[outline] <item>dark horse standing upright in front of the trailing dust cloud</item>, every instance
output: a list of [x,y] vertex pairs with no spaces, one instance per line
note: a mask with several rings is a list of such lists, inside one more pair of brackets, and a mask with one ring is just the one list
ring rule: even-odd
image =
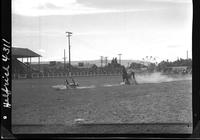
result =
[[122,79],[127,85],[131,84],[129,80],[133,80],[135,84],[138,84],[135,79],[135,72],[132,68],[129,68],[128,70],[126,70],[125,67],[122,68]]

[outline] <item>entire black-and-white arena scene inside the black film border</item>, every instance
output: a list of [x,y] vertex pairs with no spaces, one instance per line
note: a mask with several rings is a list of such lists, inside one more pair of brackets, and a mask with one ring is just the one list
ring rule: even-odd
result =
[[12,0],[14,134],[191,134],[192,0]]

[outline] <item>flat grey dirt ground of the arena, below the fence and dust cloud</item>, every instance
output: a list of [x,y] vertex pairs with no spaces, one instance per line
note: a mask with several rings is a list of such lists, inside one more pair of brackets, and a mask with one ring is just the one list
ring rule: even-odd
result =
[[13,80],[13,133],[192,132],[191,80],[139,85],[120,85],[120,76],[75,80],[83,88],[53,88],[64,78]]

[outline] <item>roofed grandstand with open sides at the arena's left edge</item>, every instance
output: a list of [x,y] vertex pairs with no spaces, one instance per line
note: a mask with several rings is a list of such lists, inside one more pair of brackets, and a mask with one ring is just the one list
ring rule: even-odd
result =
[[40,71],[40,65],[38,65],[39,67],[37,69],[31,67],[31,58],[33,57],[38,57],[38,64],[40,64],[41,55],[27,48],[12,47],[13,78],[18,78],[19,75],[23,75],[25,78],[27,78],[30,77],[31,73]]

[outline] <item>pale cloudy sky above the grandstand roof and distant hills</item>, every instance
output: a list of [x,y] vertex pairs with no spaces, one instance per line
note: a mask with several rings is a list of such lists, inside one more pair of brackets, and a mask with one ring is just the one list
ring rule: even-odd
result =
[[[192,0],[12,0],[13,47],[42,61],[192,57]],[[67,55],[68,57],[68,55]]]

